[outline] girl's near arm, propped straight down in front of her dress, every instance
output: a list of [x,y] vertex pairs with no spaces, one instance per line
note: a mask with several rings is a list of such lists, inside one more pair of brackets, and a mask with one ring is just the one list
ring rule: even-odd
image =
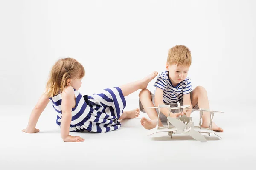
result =
[[80,136],[71,136],[69,135],[69,128],[72,119],[72,106],[75,99],[74,89],[71,86],[68,86],[62,92],[62,102],[61,102],[61,138],[64,142],[81,142],[84,141]]

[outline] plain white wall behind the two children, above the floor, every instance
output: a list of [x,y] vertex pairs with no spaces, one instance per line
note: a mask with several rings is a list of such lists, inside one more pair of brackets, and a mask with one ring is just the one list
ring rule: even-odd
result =
[[251,102],[255,7],[253,0],[2,0],[0,105],[35,105],[61,57],[84,65],[80,92],[93,94],[164,71],[177,44],[190,48],[188,76],[210,101]]

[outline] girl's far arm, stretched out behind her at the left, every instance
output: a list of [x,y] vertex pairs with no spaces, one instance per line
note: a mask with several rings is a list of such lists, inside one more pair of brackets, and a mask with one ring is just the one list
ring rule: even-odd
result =
[[38,100],[37,104],[33,108],[30,118],[29,118],[29,123],[26,129],[23,129],[23,132],[26,133],[36,133],[39,132],[39,129],[35,128],[36,123],[38,122],[38,119],[41,115],[41,113],[44,111],[45,107],[49,103],[49,98],[46,94],[43,94],[40,99]]

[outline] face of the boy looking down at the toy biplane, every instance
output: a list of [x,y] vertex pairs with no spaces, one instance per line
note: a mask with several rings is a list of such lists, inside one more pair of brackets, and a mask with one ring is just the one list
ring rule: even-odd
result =
[[172,85],[176,86],[184,79],[186,79],[189,72],[189,67],[187,65],[177,65],[166,63],[166,71],[169,71],[169,78],[172,82]]

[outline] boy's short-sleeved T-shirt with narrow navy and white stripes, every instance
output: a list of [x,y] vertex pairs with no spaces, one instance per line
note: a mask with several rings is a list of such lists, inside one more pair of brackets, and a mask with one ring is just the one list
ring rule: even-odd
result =
[[157,77],[154,86],[163,90],[163,102],[166,104],[177,103],[183,99],[184,94],[192,91],[189,77],[180,82],[176,87],[172,85],[169,79],[168,71],[163,71]]

